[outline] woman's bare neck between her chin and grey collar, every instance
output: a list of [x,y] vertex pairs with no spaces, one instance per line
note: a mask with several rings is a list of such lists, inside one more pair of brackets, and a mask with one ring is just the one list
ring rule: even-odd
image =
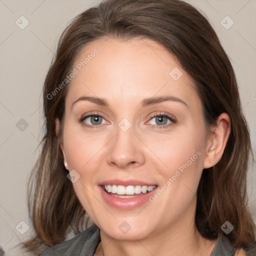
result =
[[[193,223],[193,224],[192,224]],[[178,227],[177,227],[178,226]],[[117,240],[108,236],[100,230],[100,237],[103,253],[100,246],[99,256],[124,255],[124,256],[210,256],[216,240],[203,238],[198,232],[194,221],[182,226],[179,224],[171,225],[150,237],[134,240]]]

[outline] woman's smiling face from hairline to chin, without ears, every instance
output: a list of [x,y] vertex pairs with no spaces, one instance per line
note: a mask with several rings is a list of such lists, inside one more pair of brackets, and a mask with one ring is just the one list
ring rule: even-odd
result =
[[61,148],[88,215],[116,239],[191,226],[207,145],[191,78],[150,39],[93,41],[73,68]]

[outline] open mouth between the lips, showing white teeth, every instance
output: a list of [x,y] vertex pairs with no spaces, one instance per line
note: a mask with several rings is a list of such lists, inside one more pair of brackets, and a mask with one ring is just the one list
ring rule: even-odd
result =
[[146,194],[156,188],[157,185],[102,185],[103,190],[111,196],[118,198],[131,198]]

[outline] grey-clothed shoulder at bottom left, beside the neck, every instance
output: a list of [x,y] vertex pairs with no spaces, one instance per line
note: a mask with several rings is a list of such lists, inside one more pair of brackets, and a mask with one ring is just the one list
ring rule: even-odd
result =
[[99,228],[94,224],[73,238],[46,248],[38,256],[93,256],[99,241]]

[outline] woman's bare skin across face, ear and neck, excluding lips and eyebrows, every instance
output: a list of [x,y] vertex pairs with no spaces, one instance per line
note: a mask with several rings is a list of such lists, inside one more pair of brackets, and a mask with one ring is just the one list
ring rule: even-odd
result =
[[[201,101],[192,79],[175,58],[150,39],[101,38],[80,52],[76,63],[95,48],[99,52],[71,80],[65,101],[61,149],[66,168],[80,178],[73,183],[84,209],[100,228],[105,256],[110,255],[210,255],[215,240],[204,239],[196,229],[196,189],[203,168],[216,164],[230,133],[230,119],[222,113],[207,136]],[[169,72],[182,71],[178,80]],[[80,100],[81,96],[105,98],[108,107]],[[171,95],[183,100],[140,106],[146,97]],[[101,127],[91,112],[103,117]],[[159,128],[159,112],[176,119]],[[131,127],[118,123],[126,118]],[[95,119],[92,119],[92,121]],[[59,130],[56,120],[56,132]],[[154,128],[153,128],[154,127]],[[98,184],[107,179],[138,179],[161,187],[197,151],[201,154],[157,198],[135,209],[116,209],[102,198]],[[126,221],[127,233],[118,226]],[[96,253],[102,255],[101,244]]]

